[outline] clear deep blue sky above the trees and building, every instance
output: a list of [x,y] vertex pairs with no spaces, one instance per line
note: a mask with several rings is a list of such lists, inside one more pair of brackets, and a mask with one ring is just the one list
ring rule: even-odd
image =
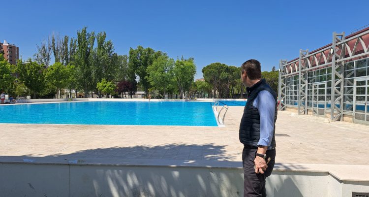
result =
[[51,33],[77,37],[88,27],[106,32],[119,55],[141,45],[193,57],[195,78],[203,78],[201,69],[215,62],[257,59],[270,71],[300,49],[332,43],[333,32],[368,25],[365,7],[368,0],[5,0],[0,41],[27,59]]

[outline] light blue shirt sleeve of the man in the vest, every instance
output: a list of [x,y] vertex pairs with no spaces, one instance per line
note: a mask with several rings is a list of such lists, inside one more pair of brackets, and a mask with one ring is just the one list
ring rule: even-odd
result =
[[260,140],[257,145],[271,148],[274,132],[274,113],[276,112],[276,100],[266,91],[260,91],[252,103],[260,115]]

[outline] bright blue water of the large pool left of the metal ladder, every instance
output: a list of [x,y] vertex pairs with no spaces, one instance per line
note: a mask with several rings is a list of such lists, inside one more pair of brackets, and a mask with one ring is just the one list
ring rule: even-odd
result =
[[0,106],[0,123],[217,126],[211,102],[63,102]]

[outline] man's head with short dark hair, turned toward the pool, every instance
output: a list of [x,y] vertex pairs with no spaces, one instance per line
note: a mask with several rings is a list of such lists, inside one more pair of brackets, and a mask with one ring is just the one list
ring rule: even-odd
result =
[[247,60],[241,66],[241,80],[246,87],[251,87],[261,79],[261,65],[257,60]]

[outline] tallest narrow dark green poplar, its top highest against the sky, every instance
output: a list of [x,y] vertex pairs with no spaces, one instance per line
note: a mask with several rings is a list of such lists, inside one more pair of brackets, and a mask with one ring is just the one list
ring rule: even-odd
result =
[[[77,85],[84,90],[87,97],[93,86],[93,44],[95,33],[87,33],[87,28],[77,32],[78,46],[75,53]],[[92,96],[92,93],[91,93]]]

